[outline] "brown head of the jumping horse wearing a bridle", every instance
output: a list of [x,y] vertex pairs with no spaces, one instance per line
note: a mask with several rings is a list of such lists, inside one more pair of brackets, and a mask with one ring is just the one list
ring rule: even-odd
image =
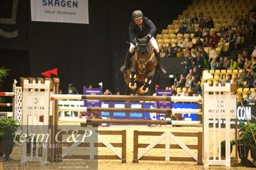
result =
[[136,38],[137,40],[137,64],[139,73],[144,73],[146,71],[146,65],[149,63],[149,44],[146,42],[146,37],[144,38]]

